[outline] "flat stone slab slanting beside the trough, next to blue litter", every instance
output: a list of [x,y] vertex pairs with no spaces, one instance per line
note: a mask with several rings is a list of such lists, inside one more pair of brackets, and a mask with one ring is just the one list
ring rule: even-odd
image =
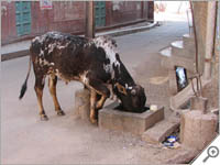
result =
[[148,143],[158,144],[170,135],[179,127],[179,124],[180,119],[172,116],[146,130],[142,134],[142,140]]

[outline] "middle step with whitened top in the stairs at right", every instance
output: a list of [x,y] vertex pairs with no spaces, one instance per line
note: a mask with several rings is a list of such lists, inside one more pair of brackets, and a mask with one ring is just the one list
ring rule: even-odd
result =
[[187,57],[187,58],[194,57],[194,53],[191,52],[191,50],[184,47],[183,41],[175,41],[170,45],[172,45],[172,55],[173,56],[180,56],[180,57]]

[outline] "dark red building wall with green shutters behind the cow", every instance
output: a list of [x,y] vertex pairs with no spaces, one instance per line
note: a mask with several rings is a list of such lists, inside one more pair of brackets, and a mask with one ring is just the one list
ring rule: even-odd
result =
[[[85,29],[84,1],[53,1],[53,9],[42,10],[38,1],[31,2],[31,33],[18,36],[15,2],[1,2],[1,43],[31,38],[47,31],[82,34]],[[148,2],[106,1],[106,26],[147,19]]]

